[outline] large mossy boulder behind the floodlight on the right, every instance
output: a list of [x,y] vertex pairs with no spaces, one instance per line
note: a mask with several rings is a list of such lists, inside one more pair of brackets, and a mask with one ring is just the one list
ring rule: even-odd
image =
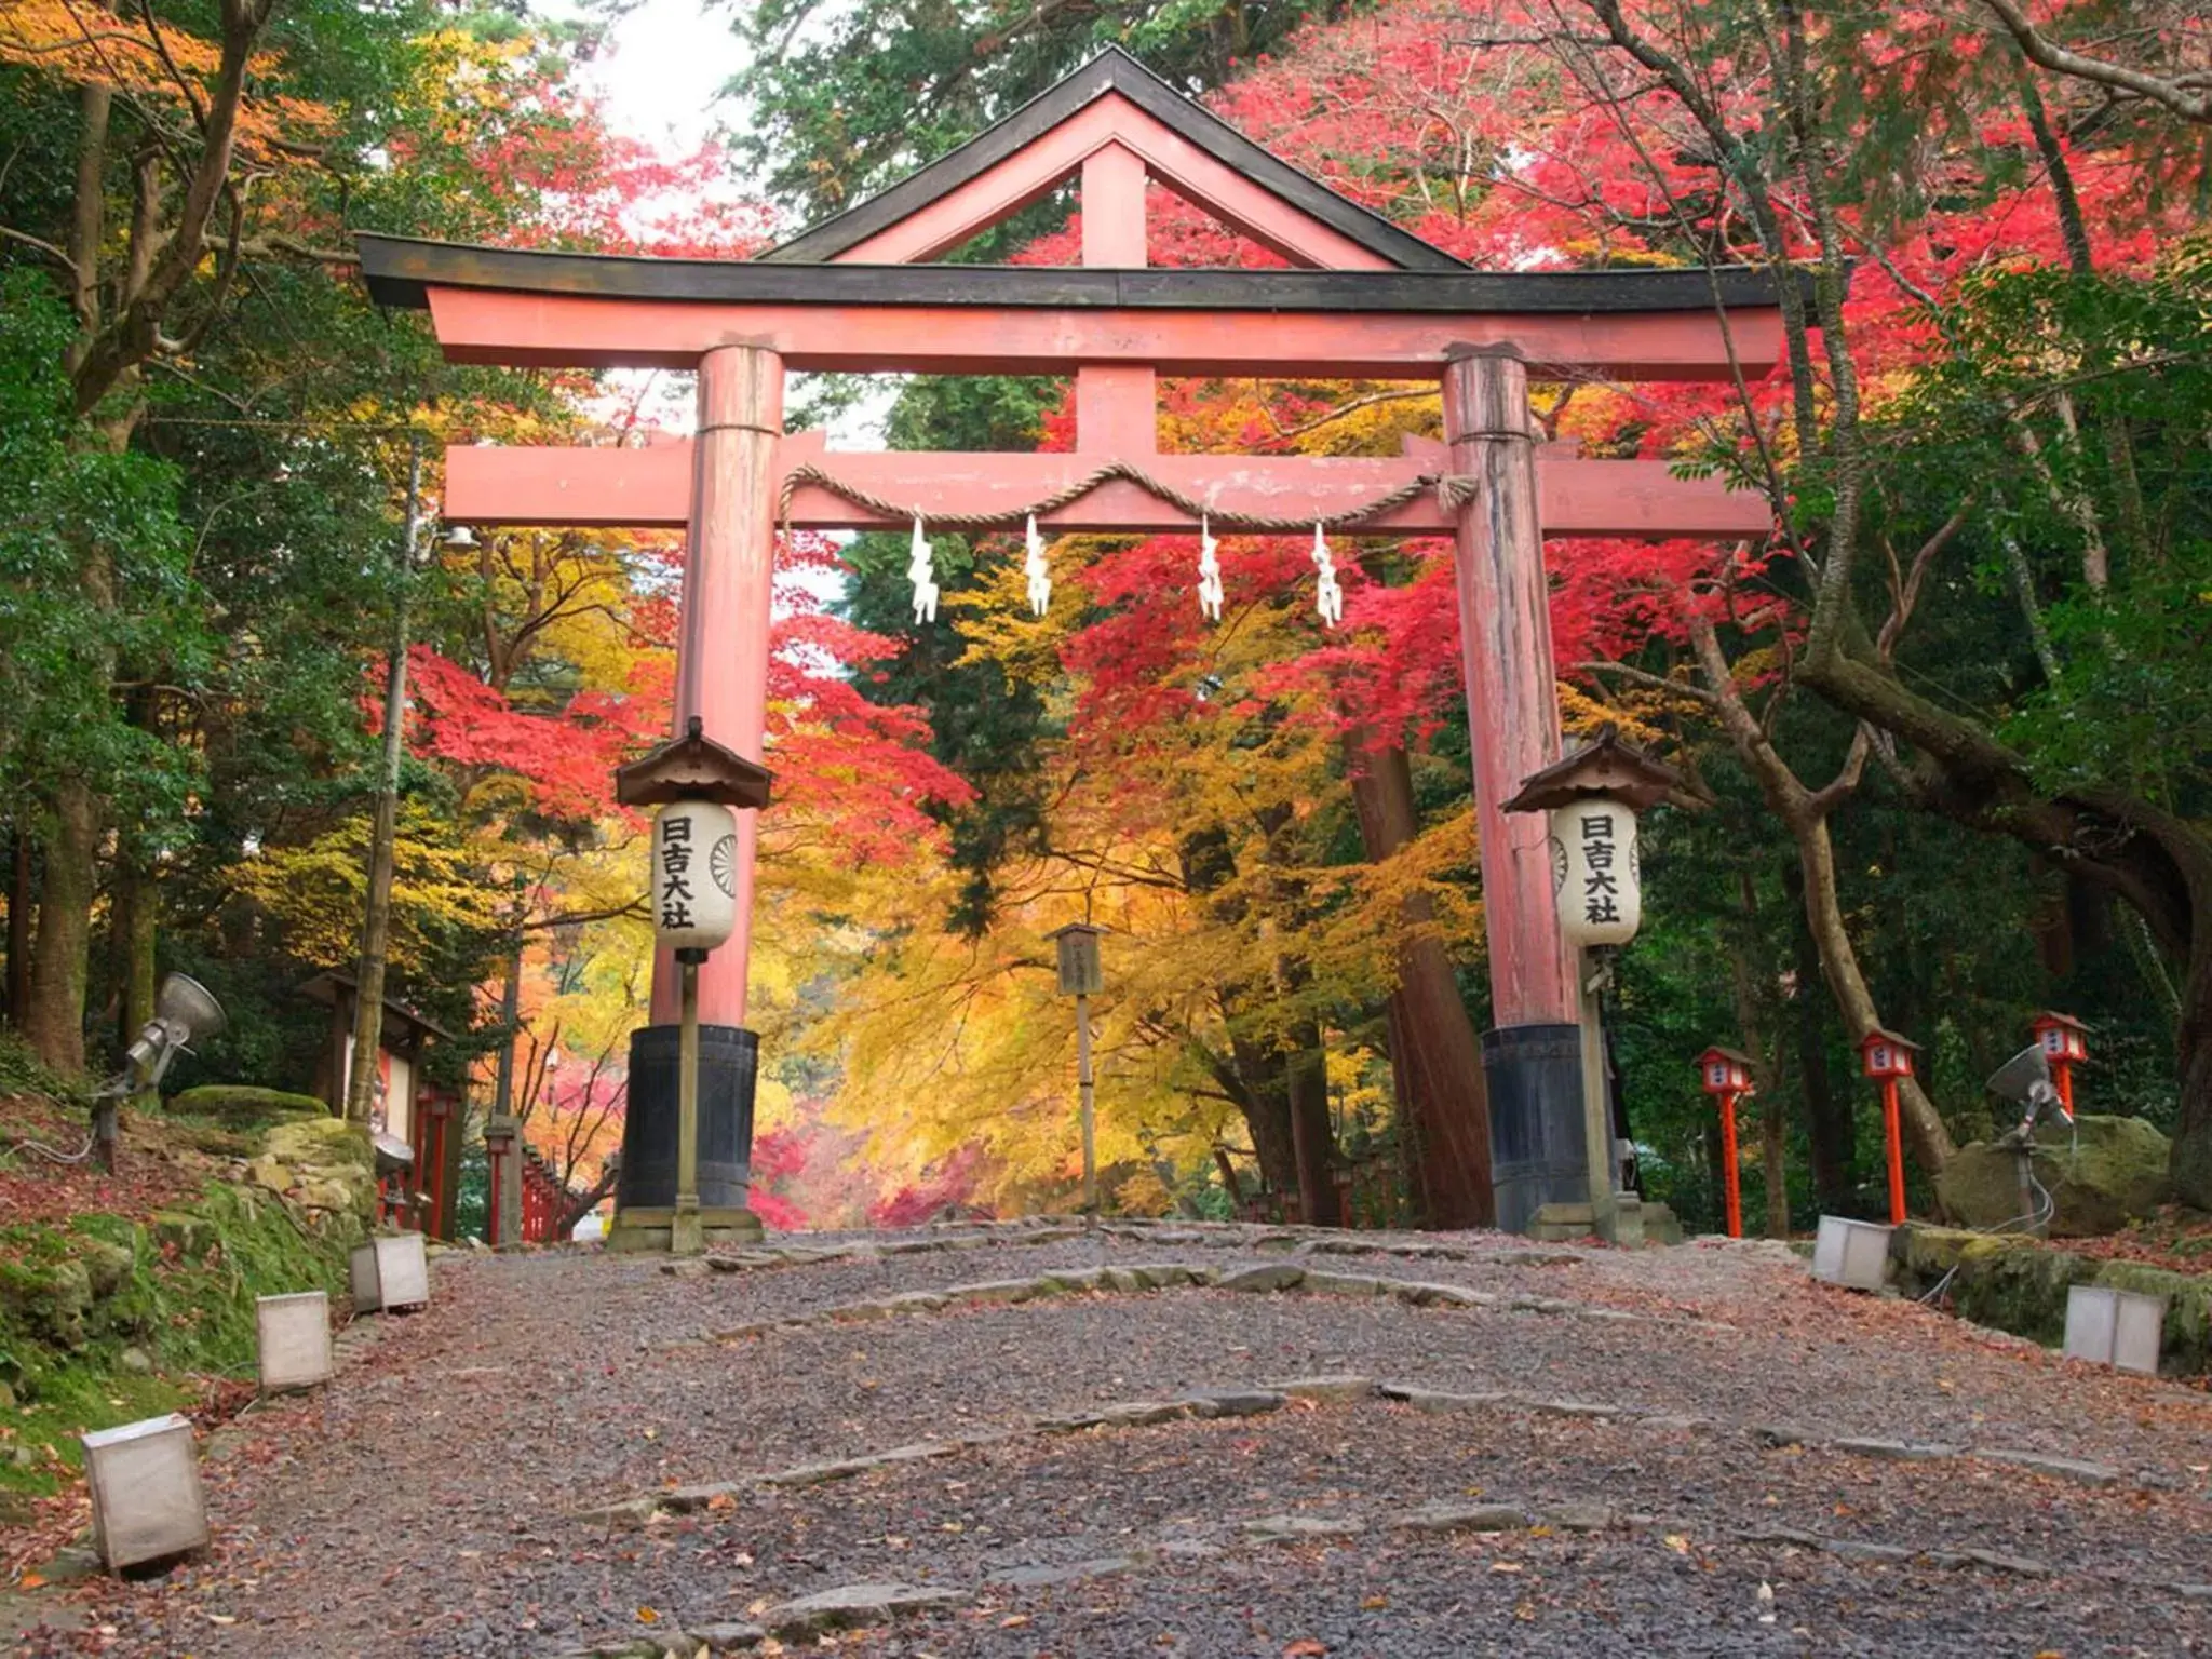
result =
[[[2035,1179],[2057,1203],[2053,1239],[2119,1232],[2168,1199],[2172,1144],[2141,1117],[2079,1117],[2048,1124],[2035,1141]],[[1936,1177],[1944,1212],[1969,1228],[1995,1228],[2022,1212],[2020,1159],[2008,1146],[1973,1141]]]

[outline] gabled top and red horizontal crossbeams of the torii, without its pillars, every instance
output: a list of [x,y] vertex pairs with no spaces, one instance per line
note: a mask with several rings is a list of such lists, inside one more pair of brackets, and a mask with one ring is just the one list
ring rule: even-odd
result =
[[[929,263],[1079,177],[1082,265]],[[1146,186],[1294,270],[1146,268]],[[978,513],[1053,533],[1327,518],[1349,533],[1453,524],[1400,458],[1157,453],[1161,374],[1436,380],[1469,352],[1531,374],[1730,380],[1781,356],[1778,281],[1728,270],[1471,270],[1336,195],[1106,49],[1004,122],[754,259],[646,259],[358,234],[385,305],[427,307],[453,363],[697,367],[726,345],[783,372],[1073,374],[1073,453],[827,453],[776,440],[781,518],[880,529]],[[1803,281],[1798,276],[1798,281]],[[1551,535],[1759,535],[1763,498],[1663,462],[1537,456]],[[1106,471],[1099,471],[1102,465]],[[827,469],[827,471],[825,471]],[[458,447],[445,515],[478,524],[681,526],[695,445]],[[1044,502],[1057,502],[1046,507]],[[1356,526],[1356,529],[1352,529]]]

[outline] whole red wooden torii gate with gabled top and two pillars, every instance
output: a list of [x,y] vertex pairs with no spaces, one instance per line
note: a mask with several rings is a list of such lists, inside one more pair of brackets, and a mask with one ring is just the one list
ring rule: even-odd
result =
[[[931,265],[1068,179],[1082,268]],[[1146,270],[1157,181],[1294,270]],[[1573,1073],[1502,1075],[1511,1037],[1571,1033],[1579,998],[1553,907],[1542,814],[1506,814],[1559,759],[1544,535],[1750,538],[1761,498],[1663,462],[1546,449],[1528,374],[1621,380],[1759,376],[1781,349],[1761,272],[1478,272],[1367,212],[1175,93],[1117,49],[883,195],[745,261],[518,252],[363,234],[387,305],[429,307],[456,363],[668,367],[699,376],[688,442],[447,451],[445,518],[688,531],[675,723],[763,759],[776,520],[905,529],[1000,515],[1110,469],[1037,513],[1060,533],[1332,522],[1349,535],[1451,533],[1473,728],[1493,1095],[1582,1144]],[[832,453],[783,431],[790,369],[1075,374],[1075,453]],[[1447,442],[1402,458],[1164,456],[1155,376],[1442,380]],[[1128,473],[1139,473],[1144,482]],[[1440,478],[1444,473],[1444,478]],[[1152,484],[1148,489],[1146,484]],[[1431,489],[1431,484],[1442,484]],[[779,502],[787,493],[787,509]],[[889,511],[896,509],[896,511]],[[741,812],[739,922],[699,973],[699,1018],[745,1022],[757,814]],[[675,1020],[655,962],[653,1020]],[[646,1035],[646,1033],[641,1033]],[[1506,1042],[1500,1042],[1506,1040]],[[633,1099],[633,1117],[650,1102]],[[734,1102],[701,1102],[734,1110]],[[670,1108],[672,1110],[672,1108]],[[743,1115],[750,1121],[750,1110]],[[1610,1199],[1610,1148],[1588,1188]],[[743,1157],[743,1150],[741,1150]]]

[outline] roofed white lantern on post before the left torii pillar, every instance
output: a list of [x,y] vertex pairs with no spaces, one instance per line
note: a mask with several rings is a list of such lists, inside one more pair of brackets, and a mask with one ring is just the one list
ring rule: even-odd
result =
[[712,741],[697,714],[675,743],[615,772],[622,805],[659,807],[653,821],[653,929],[681,969],[677,1179],[668,1217],[668,1250],[677,1256],[706,1250],[699,1208],[699,964],[737,927],[734,810],[765,807],[768,785],[768,770]]

